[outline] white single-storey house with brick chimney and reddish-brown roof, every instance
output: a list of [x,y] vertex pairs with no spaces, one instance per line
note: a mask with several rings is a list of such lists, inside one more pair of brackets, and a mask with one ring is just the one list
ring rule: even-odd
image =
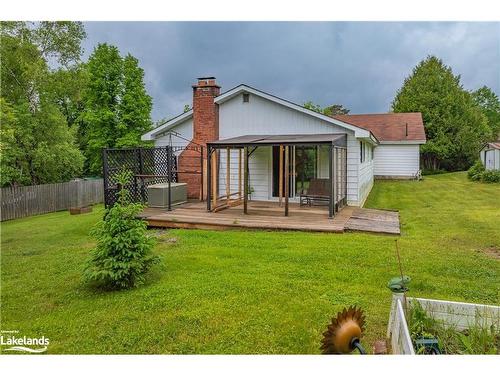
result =
[[[142,139],[156,146],[208,145],[208,174],[212,153],[218,156],[216,185],[208,183],[207,189],[226,191],[228,200],[238,190],[241,196],[237,177],[243,168],[240,150],[245,149],[245,187],[252,200],[277,201],[285,195],[287,201],[297,202],[312,181],[330,178],[338,196],[335,205],[352,206],[363,206],[374,178],[414,178],[420,169],[419,147],[426,141],[420,113],[329,117],[244,84],[221,94],[213,77],[199,78],[193,85],[191,110]],[[282,175],[283,147],[289,179]],[[199,159],[189,149],[177,154],[179,166]],[[188,183],[191,197],[199,197],[200,186],[207,184],[199,175],[183,174],[179,180]]]

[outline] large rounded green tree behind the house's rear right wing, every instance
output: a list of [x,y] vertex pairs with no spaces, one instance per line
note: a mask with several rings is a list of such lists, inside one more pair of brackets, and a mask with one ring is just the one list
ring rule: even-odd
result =
[[392,102],[393,112],[421,112],[427,136],[424,168],[464,170],[490,136],[486,117],[460,84],[460,76],[435,56],[422,60]]

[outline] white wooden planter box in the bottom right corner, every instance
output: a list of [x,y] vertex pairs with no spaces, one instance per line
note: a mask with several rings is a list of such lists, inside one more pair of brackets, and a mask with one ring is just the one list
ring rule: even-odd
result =
[[[500,324],[500,306],[410,297],[406,300],[418,301],[429,316],[457,329],[466,329],[475,322],[488,326]],[[403,306],[403,295],[394,294],[387,325],[387,339],[390,340],[392,354],[415,354]]]

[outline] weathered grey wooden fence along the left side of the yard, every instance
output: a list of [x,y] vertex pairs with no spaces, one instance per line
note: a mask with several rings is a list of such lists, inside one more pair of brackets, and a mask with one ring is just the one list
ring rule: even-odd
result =
[[102,179],[0,189],[0,221],[102,203]]

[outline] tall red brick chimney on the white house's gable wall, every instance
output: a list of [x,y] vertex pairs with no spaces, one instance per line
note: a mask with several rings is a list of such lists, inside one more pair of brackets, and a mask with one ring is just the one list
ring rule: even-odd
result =
[[[215,77],[198,78],[198,83],[193,85],[193,139],[178,158],[179,182],[188,184],[188,198],[200,198],[202,180],[200,174],[182,171],[200,171],[200,153],[194,148],[199,148],[199,145],[204,146],[203,158],[206,164],[207,142],[219,139],[219,105],[214,103],[215,97],[219,94],[220,86],[217,85]],[[206,180],[206,169],[204,180]],[[203,194],[205,195],[206,191]]]

